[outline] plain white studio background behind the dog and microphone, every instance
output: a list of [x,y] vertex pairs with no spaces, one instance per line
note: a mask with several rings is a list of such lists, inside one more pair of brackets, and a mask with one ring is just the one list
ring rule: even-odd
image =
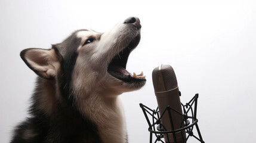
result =
[[140,18],[141,42],[127,69],[144,71],[147,83],[121,95],[129,142],[149,142],[138,104],[157,106],[151,74],[160,64],[174,68],[182,102],[199,93],[205,142],[255,142],[256,2],[242,0],[0,1],[0,142],[27,116],[35,86],[22,49],[51,48],[77,29],[104,32],[132,15]]

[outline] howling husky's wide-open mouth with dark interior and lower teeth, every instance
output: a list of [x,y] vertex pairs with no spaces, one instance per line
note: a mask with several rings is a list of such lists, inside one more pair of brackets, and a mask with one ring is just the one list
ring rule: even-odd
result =
[[140,74],[131,74],[126,70],[127,60],[132,49],[136,48],[138,43],[140,42],[140,35],[136,36],[129,42],[128,46],[125,47],[118,55],[116,55],[109,64],[107,71],[113,77],[116,77],[119,80],[123,80],[124,82],[143,82],[146,81],[143,72]]

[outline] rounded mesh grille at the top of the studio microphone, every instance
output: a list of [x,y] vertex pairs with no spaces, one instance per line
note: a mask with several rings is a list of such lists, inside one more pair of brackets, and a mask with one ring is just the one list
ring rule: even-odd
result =
[[174,70],[168,64],[156,67],[152,72],[155,92],[169,91],[178,87]]

